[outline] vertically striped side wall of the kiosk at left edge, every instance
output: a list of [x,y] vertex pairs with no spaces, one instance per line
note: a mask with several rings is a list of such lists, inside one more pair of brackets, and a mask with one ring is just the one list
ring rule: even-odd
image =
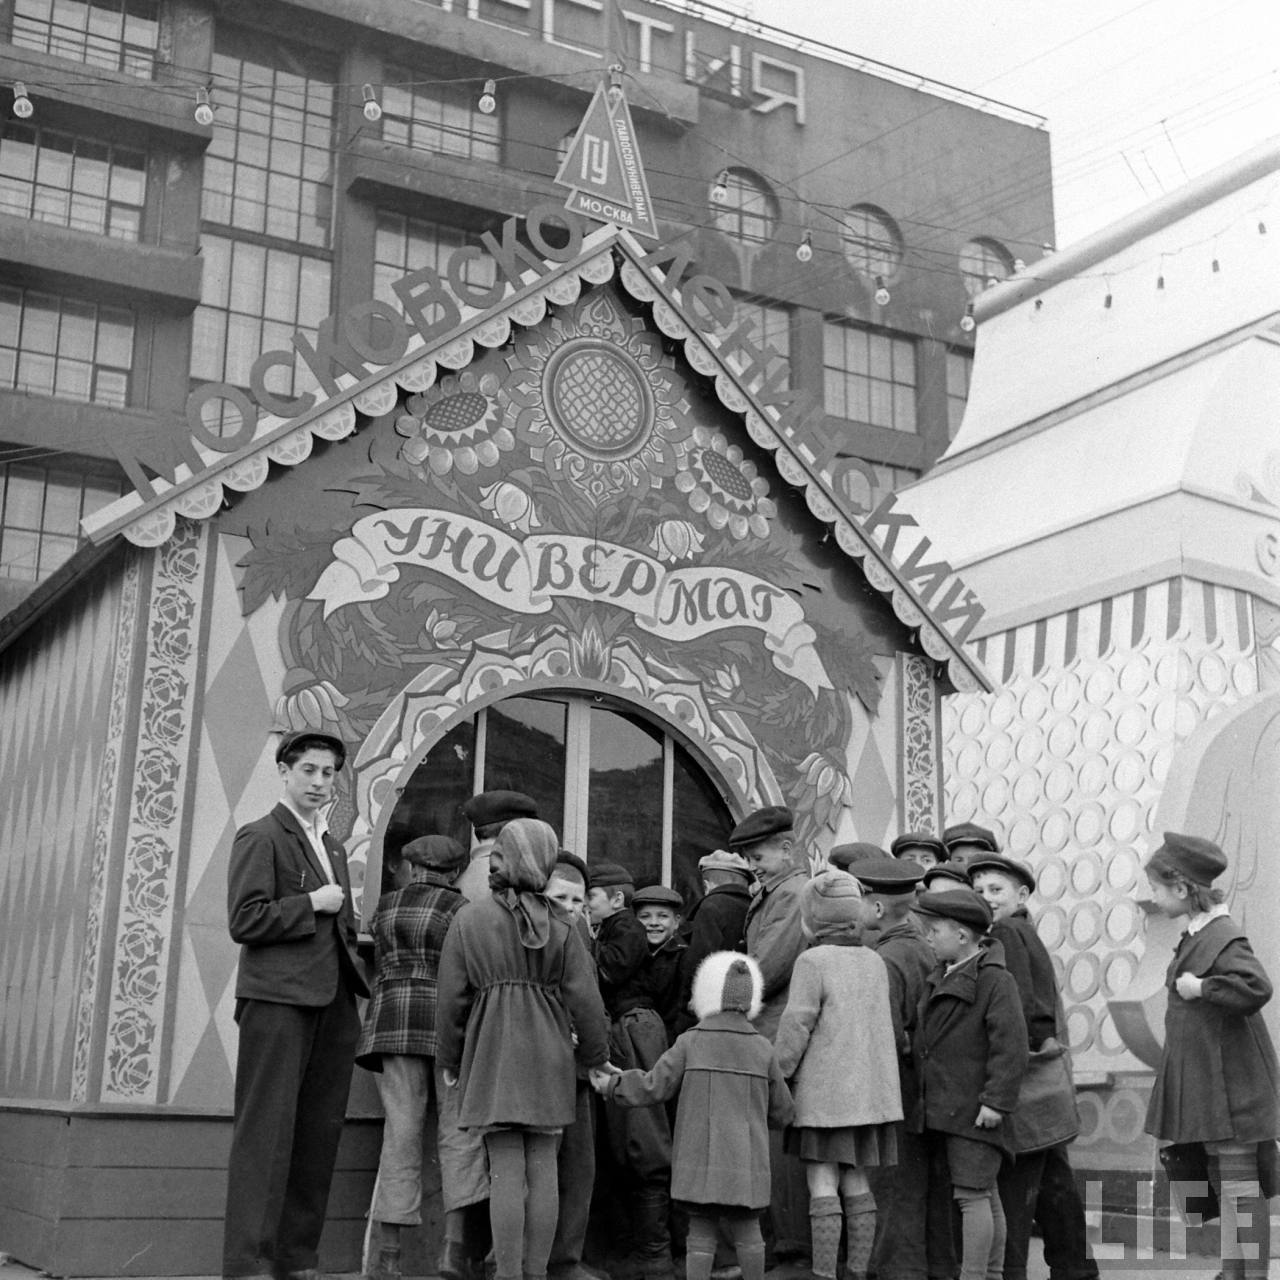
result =
[[123,573],[0,655],[0,1093],[68,1098]]

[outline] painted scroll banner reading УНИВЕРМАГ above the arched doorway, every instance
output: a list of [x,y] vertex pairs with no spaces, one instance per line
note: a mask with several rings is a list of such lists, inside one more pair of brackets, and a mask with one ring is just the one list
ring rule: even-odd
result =
[[497,593],[517,613],[545,613],[557,596],[604,602],[669,640],[750,627],[763,632],[778,671],[814,694],[832,687],[804,611],[764,579],[708,564],[667,568],[632,548],[591,538],[531,534],[521,540],[454,512],[398,508],[358,520],[334,545],[334,561],[310,599],[324,602],[326,617],[381,599],[401,566],[442,573],[485,599]]

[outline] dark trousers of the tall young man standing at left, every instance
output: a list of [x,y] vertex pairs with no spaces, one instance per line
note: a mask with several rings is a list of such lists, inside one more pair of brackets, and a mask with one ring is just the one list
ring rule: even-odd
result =
[[237,1007],[236,1123],[227,1167],[223,1275],[305,1271],[319,1261],[360,1019],[346,982],[320,1009]]

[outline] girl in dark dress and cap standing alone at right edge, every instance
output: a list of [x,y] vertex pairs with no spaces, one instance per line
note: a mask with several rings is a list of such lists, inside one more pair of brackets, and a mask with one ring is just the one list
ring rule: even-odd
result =
[[1204,1149],[1221,1203],[1224,1280],[1262,1280],[1270,1249],[1261,1174],[1280,1135],[1280,1069],[1261,1014],[1271,982],[1213,888],[1225,870],[1226,855],[1212,841],[1171,831],[1147,863],[1156,910],[1187,918],[1169,966],[1147,1132]]

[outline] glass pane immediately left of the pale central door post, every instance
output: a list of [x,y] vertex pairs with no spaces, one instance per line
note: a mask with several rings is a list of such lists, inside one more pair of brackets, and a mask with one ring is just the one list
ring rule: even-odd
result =
[[524,791],[563,838],[563,700],[508,698],[485,716],[484,791]]

